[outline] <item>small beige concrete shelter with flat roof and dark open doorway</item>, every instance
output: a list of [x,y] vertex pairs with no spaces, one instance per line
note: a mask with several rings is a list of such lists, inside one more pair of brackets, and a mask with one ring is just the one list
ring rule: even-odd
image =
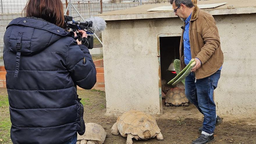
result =
[[[256,114],[256,1],[209,0],[226,5],[204,9],[214,16],[224,64],[214,92],[218,115]],[[171,61],[179,59],[183,22],[173,11],[147,12],[170,3],[142,5],[98,15],[102,32],[107,114],[136,109],[162,113],[161,79],[167,81]],[[171,110],[171,109],[170,109]]]

